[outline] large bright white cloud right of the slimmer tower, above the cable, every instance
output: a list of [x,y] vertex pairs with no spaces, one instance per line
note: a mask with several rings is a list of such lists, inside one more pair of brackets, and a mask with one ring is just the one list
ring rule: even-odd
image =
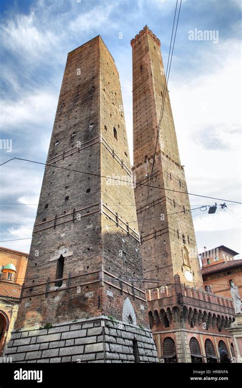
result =
[[172,77],[170,97],[188,191],[239,201],[240,46],[230,40],[216,47],[201,48],[198,72]]

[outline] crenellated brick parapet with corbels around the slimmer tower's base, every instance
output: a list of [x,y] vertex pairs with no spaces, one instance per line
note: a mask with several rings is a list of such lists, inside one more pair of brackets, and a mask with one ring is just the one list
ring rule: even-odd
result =
[[[234,320],[234,308],[231,299],[215,296],[181,284],[179,275],[175,275],[175,282],[147,290],[147,301],[150,324],[158,326],[168,321],[187,320],[217,329],[227,329]],[[157,319],[158,317],[158,319]],[[158,322],[158,323],[157,323]]]

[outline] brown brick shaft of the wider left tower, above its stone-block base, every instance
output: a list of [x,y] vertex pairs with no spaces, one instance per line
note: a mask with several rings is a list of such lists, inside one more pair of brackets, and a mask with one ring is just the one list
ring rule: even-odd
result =
[[[143,299],[131,298],[137,324],[148,327],[143,283],[135,283],[136,288],[124,283],[123,294],[106,273],[111,285],[106,279],[95,283],[101,270],[116,277],[142,277],[134,191],[126,183],[132,181],[132,172],[119,76],[100,36],[68,54],[47,162],[52,165],[45,168],[15,328],[64,323],[66,306],[70,321],[102,313],[122,320],[124,302],[134,289],[135,296]],[[116,215],[118,227],[113,222]],[[128,222],[132,222],[129,229]],[[61,254],[64,280],[56,288]],[[90,323],[86,329],[91,329]]]

